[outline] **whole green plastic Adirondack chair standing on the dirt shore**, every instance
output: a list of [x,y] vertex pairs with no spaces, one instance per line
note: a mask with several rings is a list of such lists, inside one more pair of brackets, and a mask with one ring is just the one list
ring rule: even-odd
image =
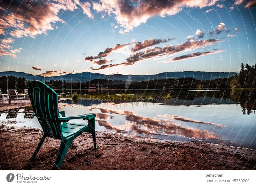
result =
[[[31,81],[28,85],[28,95],[35,112],[34,115],[44,131],[44,135],[30,159],[31,161],[34,160],[46,137],[61,140],[54,165],[55,169],[61,166],[71,142],[83,132],[92,134],[94,149],[97,150],[94,121],[96,114],[88,113],[66,117],[64,111],[59,111],[57,93],[42,81]],[[88,120],[88,124],[68,122],[74,119]]]

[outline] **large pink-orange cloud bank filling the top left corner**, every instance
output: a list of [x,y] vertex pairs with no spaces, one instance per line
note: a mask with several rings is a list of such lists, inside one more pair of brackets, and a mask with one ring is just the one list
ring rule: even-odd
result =
[[83,9],[84,14],[90,18],[93,17],[90,12],[91,4],[89,2],[81,3],[79,0],[54,0],[52,2],[40,0],[34,4],[31,2],[17,0],[11,2],[2,1],[1,9],[6,7],[7,10],[4,13],[0,13],[0,16],[4,20],[3,23],[0,21],[2,30],[2,26],[5,24],[15,28],[10,32],[14,37],[20,38],[26,36],[35,38],[38,34],[47,34],[48,31],[53,30],[52,24],[56,22],[65,23],[58,17],[60,10],[74,11],[80,7]]

